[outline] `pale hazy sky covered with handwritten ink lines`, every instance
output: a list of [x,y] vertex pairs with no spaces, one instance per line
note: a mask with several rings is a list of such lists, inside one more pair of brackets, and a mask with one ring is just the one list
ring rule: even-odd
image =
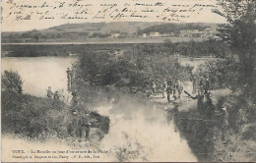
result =
[[3,0],[2,8],[2,31],[90,22],[224,23],[211,11],[216,0]]

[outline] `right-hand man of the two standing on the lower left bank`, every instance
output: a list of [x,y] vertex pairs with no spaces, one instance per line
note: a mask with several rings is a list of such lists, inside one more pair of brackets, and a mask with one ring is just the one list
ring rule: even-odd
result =
[[82,139],[85,132],[86,132],[86,140],[90,139],[91,125],[92,124],[90,123],[89,112],[86,111],[85,115],[82,116],[82,118],[78,122],[80,140]]

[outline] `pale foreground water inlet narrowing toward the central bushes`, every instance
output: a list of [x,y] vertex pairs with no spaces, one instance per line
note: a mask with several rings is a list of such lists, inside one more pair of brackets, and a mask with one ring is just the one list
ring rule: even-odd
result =
[[100,148],[111,150],[113,161],[197,161],[187,141],[174,132],[173,120],[166,120],[173,113],[127,96],[97,111],[110,117]]

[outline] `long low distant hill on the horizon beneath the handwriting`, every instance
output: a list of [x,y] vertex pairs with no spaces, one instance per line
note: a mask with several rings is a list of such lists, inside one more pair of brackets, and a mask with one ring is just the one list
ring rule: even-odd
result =
[[[56,27],[49,27],[41,30],[30,30],[20,32],[2,32],[3,43],[27,43],[27,42],[67,42],[67,41],[88,41],[92,38],[134,38],[142,36],[142,33],[158,31],[162,33],[179,33],[181,29],[199,29],[206,27],[216,28],[216,24],[169,24],[169,23],[142,23],[142,22],[121,22],[121,23],[85,23],[66,24]],[[118,32],[118,36],[111,36],[111,33]],[[176,34],[178,36],[178,34]],[[115,38],[115,39],[118,39]],[[113,38],[114,39],[114,38]]]

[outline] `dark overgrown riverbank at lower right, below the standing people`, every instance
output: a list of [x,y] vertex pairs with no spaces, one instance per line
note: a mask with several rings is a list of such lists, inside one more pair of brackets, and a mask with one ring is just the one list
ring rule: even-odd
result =
[[[232,94],[228,89],[213,90],[212,101],[215,106],[212,118],[197,110],[197,100],[183,96],[176,104],[162,102],[160,98],[152,101],[166,110],[169,121],[173,121],[180,136],[185,138],[199,161],[254,161],[256,152],[255,106],[250,105],[241,95]],[[224,143],[222,104],[228,113],[227,140]],[[174,112],[175,106],[178,110]],[[254,107],[254,109],[253,109]],[[247,111],[247,112],[246,112]],[[221,115],[220,115],[221,114]]]

